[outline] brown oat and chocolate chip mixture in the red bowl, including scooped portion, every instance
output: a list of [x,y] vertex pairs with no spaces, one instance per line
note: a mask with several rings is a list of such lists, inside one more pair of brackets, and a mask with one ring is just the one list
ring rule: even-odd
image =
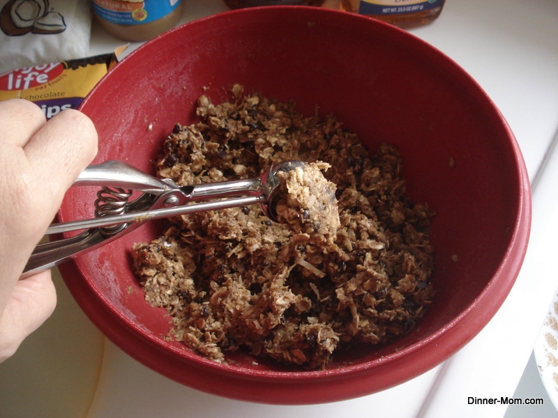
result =
[[201,355],[224,361],[243,348],[323,369],[335,350],[409,332],[432,300],[433,212],[405,197],[398,150],[370,154],[340,121],[315,113],[236,85],[221,104],[200,97],[201,121],[165,140],[158,175],[179,185],[307,162],[282,179],[276,211],[286,223],[259,206],[197,213],[134,245],[146,300],[165,307],[172,338]]

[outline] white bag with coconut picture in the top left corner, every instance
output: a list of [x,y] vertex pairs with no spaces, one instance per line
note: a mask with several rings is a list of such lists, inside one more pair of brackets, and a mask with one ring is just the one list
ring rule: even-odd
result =
[[88,56],[89,0],[0,0],[0,73]]

